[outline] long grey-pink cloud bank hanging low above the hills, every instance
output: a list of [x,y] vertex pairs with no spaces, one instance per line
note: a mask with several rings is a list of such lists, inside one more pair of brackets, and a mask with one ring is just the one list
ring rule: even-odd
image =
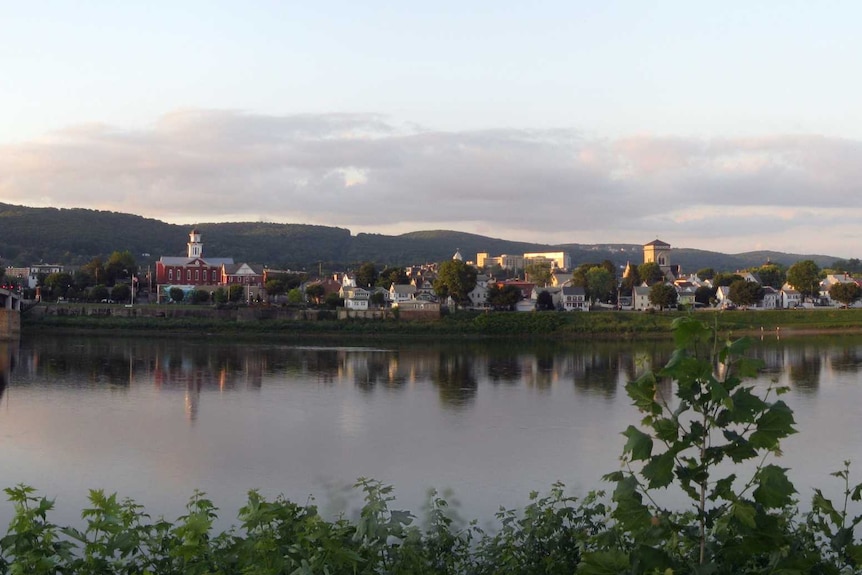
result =
[[834,250],[858,236],[859,182],[853,140],[435,132],[372,114],[180,110],[147,130],[81,125],[0,147],[8,203],[721,251]]

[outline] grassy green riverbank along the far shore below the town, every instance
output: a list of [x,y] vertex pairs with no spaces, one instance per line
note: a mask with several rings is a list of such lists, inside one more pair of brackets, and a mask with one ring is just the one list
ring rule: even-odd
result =
[[[51,306],[54,306],[53,308]],[[820,333],[862,333],[862,309],[815,308],[804,310],[696,312],[472,312],[459,311],[436,320],[404,320],[392,313],[342,317],[327,310],[243,307],[234,310],[202,306],[143,305],[75,306],[57,309],[47,304],[22,316],[22,331],[142,332],[153,334],[208,333],[213,335],[298,337],[534,337],[669,338],[674,319],[694,313],[720,333],[734,335],[775,334],[798,336]],[[41,308],[41,309],[40,309]],[[59,313],[58,313],[59,311]]]

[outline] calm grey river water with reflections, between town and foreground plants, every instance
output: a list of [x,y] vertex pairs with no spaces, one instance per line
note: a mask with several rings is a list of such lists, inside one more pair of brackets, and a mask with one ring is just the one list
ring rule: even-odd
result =
[[[0,343],[0,486],[56,498],[78,521],[103,488],[175,519],[195,489],[232,523],[246,492],[352,509],[360,476],[420,512],[428,488],[490,520],[554,481],[582,495],[618,468],[638,420],[625,382],[667,343],[287,345],[25,337]],[[778,463],[803,500],[862,465],[862,339],[759,341],[757,385],[789,385],[800,433]],[[862,481],[862,472],[856,475]],[[11,506],[0,503],[0,533]]]

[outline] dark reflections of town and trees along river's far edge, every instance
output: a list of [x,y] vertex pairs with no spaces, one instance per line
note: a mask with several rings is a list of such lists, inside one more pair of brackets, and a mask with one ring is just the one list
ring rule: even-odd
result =
[[[326,385],[349,382],[362,393],[379,387],[400,392],[427,381],[438,388],[444,406],[463,410],[474,402],[482,382],[540,392],[571,382],[578,393],[613,399],[625,382],[663,365],[670,352],[666,342],[378,349],[43,337],[26,342],[20,351],[17,343],[0,344],[0,393],[19,363],[24,385],[36,380],[114,389],[152,385],[181,392],[190,419],[198,416],[201,393],[259,390],[273,376]],[[855,374],[862,367],[858,338],[764,341],[752,354],[763,360],[765,378],[805,393],[816,393],[824,376]]]

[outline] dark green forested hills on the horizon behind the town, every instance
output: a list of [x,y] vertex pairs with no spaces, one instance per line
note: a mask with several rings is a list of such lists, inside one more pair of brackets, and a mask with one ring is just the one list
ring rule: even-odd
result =
[[[204,254],[233,257],[236,261],[271,268],[345,269],[365,261],[381,265],[439,262],[460,250],[473,260],[477,252],[492,256],[565,250],[574,265],[609,259],[617,265],[640,264],[643,248],[634,244],[547,245],[515,242],[462,232],[418,231],[399,236],[351,235],[350,230],[305,224],[262,222],[199,223]],[[33,263],[83,264],[114,251],[131,252],[139,264],[160,256],[182,256],[191,226],[168,224],[118,212],[29,208],[0,203],[0,261],[3,266]],[[813,259],[827,267],[836,259],[824,255],[749,252],[728,255],[674,247],[673,263],[685,272],[712,267],[731,271],[759,266],[766,261],[790,265]]]

